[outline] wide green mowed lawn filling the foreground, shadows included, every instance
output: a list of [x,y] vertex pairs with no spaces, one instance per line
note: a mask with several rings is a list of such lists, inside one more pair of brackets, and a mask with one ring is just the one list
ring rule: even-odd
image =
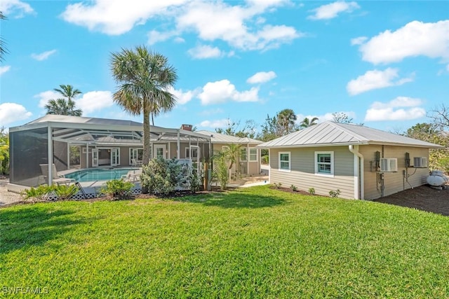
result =
[[449,296],[449,218],[267,186],[9,207],[0,244],[0,297]]

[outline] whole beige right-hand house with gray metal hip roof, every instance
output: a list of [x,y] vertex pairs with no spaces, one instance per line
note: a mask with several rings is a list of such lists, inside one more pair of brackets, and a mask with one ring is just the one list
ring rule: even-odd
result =
[[265,142],[271,183],[316,194],[373,200],[421,186],[436,144],[361,125],[326,121]]

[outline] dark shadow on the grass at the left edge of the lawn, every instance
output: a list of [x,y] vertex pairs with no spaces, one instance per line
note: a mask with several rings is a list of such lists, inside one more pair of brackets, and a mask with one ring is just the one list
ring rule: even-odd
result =
[[0,253],[41,246],[85,220],[73,219],[74,211],[49,211],[42,207],[0,210]]

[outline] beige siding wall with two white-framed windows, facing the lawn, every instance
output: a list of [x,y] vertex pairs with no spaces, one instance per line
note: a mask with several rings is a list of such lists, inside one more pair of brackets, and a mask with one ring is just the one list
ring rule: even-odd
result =
[[[333,151],[334,176],[315,174],[315,151]],[[279,171],[279,152],[290,152],[290,172]],[[271,148],[269,152],[270,182],[282,183],[299,190],[314,188],[317,195],[329,196],[330,190],[340,190],[339,197],[354,198],[354,154],[348,146],[314,148]]]

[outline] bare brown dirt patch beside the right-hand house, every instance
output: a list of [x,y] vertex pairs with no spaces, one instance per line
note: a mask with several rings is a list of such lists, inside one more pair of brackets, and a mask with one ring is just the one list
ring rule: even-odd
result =
[[449,188],[438,190],[424,185],[373,201],[449,216]]

